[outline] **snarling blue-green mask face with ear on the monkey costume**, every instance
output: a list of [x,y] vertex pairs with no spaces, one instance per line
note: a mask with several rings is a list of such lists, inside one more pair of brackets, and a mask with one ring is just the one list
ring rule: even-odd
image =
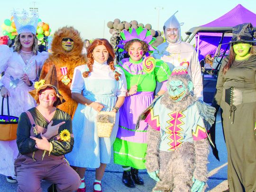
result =
[[193,83],[191,81],[188,82],[188,87],[180,80],[172,80],[169,85],[167,85],[170,99],[175,102],[181,101],[187,95],[186,90],[188,89],[190,92],[192,88]]

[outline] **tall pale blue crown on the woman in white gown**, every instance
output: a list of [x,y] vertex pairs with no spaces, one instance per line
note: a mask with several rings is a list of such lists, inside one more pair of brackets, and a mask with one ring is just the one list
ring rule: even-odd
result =
[[[13,10],[12,12],[14,23],[18,34],[20,33],[37,33],[37,23],[38,14],[37,12],[32,12],[28,14],[26,10],[23,9],[22,12]],[[30,15],[30,16],[29,16]]]

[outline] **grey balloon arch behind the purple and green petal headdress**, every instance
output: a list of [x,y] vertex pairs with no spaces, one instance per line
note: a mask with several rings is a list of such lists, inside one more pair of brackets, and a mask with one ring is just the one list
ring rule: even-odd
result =
[[152,43],[153,46],[158,46],[164,42],[164,38],[161,36],[161,32],[159,30],[155,31],[154,29],[152,29],[152,26],[150,24],[146,24],[146,25],[142,23],[138,24],[136,20],[133,20],[131,22],[127,22],[127,21],[121,22],[120,19],[115,19],[113,22],[109,21],[107,23],[107,26],[110,28],[110,34],[112,34],[112,37],[110,38],[110,43],[113,46],[116,46],[119,44],[119,41],[121,40],[120,32],[122,32],[123,30],[128,31],[129,28],[137,29],[140,26],[150,31],[151,35],[156,38],[155,42]]

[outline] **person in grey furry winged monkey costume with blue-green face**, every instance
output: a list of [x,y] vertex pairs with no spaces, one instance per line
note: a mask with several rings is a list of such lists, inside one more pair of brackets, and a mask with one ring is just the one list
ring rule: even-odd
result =
[[207,129],[214,121],[214,109],[207,117],[204,113],[211,107],[198,100],[192,89],[186,68],[174,68],[167,92],[155,98],[139,118],[146,118],[149,124],[146,168],[157,181],[153,192],[201,192],[206,188]]

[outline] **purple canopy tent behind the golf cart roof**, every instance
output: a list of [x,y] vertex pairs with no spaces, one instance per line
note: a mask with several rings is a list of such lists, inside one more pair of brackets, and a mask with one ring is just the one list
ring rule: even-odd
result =
[[[215,54],[220,43],[229,42],[232,36],[232,27],[242,23],[252,23],[256,27],[256,14],[247,8],[238,4],[225,15],[215,19],[214,21],[191,28],[186,34],[188,35],[185,42],[191,42],[196,36],[196,50],[199,60],[203,59],[207,54]],[[192,37],[190,37],[190,35]],[[223,37],[223,38],[221,38]],[[228,44],[221,46],[220,52],[224,52],[229,46]]]

